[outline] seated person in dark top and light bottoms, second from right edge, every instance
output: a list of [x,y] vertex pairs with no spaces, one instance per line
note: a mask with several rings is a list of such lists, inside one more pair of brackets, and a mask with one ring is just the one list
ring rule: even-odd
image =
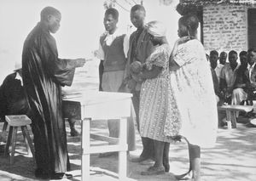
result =
[[247,100],[247,84],[249,83],[249,79],[246,75],[247,52],[241,51],[239,57],[241,65],[236,72],[236,80],[234,83],[231,105],[244,105],[244,101]]

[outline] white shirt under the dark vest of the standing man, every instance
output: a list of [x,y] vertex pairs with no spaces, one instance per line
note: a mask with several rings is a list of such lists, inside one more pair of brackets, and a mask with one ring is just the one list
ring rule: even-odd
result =
[[[107,31],[107,36],[105,37],[104,41],[106,42],[106,44],[108,46],[110,46],[111,43],[113,42],[113,40],[116,37],[119,37],[121,35],[124,35],[124,33],[121,33],[118,29],[116,29],[116,31],[114,31],[113,34],[109,34]],[[127,58],[127,53],[128,53],[128,49],[129,49],[129,36],[128,35],[125,35],[123,47],[124,47],[125,58]],[[96,58],[104,60],[104,57],[105,57],[104,50],[103,50],[102,44],[100,42],[99,49],[96,51]]]

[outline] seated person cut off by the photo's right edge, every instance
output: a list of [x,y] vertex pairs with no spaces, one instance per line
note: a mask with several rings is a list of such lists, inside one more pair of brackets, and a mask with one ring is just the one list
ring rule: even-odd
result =
[[249,79],[249,83],[247,85],[248,88],[248,99],[251,100],[251,105],[253,105],[253,99],[256,97],[256,49],[249,48],[247,52],[247,71],[246,75]]

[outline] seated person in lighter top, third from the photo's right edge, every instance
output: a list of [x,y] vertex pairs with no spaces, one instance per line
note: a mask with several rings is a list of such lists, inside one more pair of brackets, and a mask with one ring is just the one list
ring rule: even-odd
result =
[[236,51],[230,51],[229,62],[230,63],[224,65],[223,69],[220,72],[219,88],[220,91],[224,94],[225,102],[230,105],[232,100],[232,93],[234,90],[234,84],[236,81],[236,72],[239,67],[237,63]]

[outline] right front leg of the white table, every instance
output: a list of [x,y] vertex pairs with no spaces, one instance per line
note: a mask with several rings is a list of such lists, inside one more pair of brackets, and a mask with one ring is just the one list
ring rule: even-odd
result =
[[127,173],[127,118],[121,118],[119,125],[119,145],[122,147],[119,151],[119,180],[125,180]]

